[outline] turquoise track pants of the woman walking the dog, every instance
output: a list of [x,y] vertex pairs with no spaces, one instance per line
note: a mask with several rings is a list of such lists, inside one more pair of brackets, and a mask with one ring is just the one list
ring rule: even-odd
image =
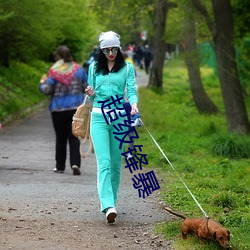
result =
[[119,149],[120,141],[114,138],[113,132],[117,131],[113,125],[124,124],[124,120],[125,117],[119,117],[107,125],[103,114],[91,113],[90,134],[97,160],[97,190],[102,212],[106,208],[115,207],[118,199],[124,143]]

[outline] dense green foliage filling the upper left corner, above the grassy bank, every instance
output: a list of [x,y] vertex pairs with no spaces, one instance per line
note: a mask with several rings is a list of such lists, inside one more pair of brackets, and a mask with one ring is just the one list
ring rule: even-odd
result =
[[[2,0],[0,64],[11,60],[50,60],[55,48],[67,45],[82,61],[96,43],[95,15],[89,1]],[[93,15],[92,15],[93,14]]]

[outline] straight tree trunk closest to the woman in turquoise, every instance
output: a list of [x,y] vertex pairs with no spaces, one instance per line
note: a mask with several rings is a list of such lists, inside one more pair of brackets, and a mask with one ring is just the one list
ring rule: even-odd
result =
[[168,12],[168,1],[156,1],[156,16],[155,16],[155,37],[153,45],[153,62],[149,74],[148,87],[157,87],[162,89],[163,66],[166,53],[166,43],[164,34],[166,28],[166,19]]

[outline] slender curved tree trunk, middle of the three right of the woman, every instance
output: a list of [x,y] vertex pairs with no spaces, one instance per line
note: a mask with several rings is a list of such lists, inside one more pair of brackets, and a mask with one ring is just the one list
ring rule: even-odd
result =
[[218,108],[207,95],[201,80],[200,57],[196,48],[195,18],[190,15],[193,11],[192,6],[187,6],[187,10],[185,18],[185,55],[191,92],[200,113],[217,113]]

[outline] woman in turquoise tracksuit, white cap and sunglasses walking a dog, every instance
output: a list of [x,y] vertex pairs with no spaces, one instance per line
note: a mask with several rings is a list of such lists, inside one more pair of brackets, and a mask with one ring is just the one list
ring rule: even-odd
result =
[[[100,53],[97,60],[89,67],[89,86],[86,89],[86,93],[93,100],[90,133],[97,159],[97,189],[101,211],[106,213],[108,223],[113,223],[117,215],[115,204],[121,178],[121,153],[124,149],[124,143],[120,147],[120,141],[113,134],[117,132],[113,125],[124,124],[127,117],[124,115],[125,110],[121,112],[122,116],[118,116],[118,119],[112,119],[110,115],[106,113],[104,115],[103,112],[124,108],[125,88],[132,106],[131,115],[138,112],[134,66],[125,62],[120,50],[119,38],[119,35],[112,31],[104,32],[99,36]],[[103,109],[103,102],[110,103],[111,96],[122,100],[120,103],[110,105],[108,109]]]

